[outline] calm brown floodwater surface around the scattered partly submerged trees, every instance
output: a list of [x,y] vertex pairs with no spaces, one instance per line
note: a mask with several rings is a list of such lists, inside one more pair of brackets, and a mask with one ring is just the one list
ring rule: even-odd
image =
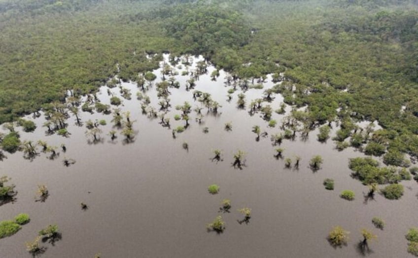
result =
[[[21,132],[22,140],[46,140],[60,146],[65,143],[67,152],[61,151],[56,160],[49,160],[41,153],[32,162],[21,152],[6,154],[0,162],[0,175],[12,177],[18,190],[17,201],[0,206],[0,220],[12,219],[18,213],[28,213],[31,222],[15,235],[0,240],[1,258],[30,257],[24,243],[33,240],[38,230],[56,223],[62,239],[55,246],[42,244],[48,249],[42,257],[88,258],[101,252],[103,257],[361,257],[356,248],[362,239],[361,228],[369,228],[378,235],[370,242],[369,257],[409,257],[405,234],[409,227],[417,226],[417,184],[403,182],[405,194],[400,200],[390,201],[377,194],[375,200],[365,203],[363,194],[367,187],[350,177],[348,158],[362,153],[348,148],[342,152],[334,149],[331,140],[327,144],[316,141],[311,132],[307,141],[297,137],[284,140],[284,157],[302,157],[298,170],[284,168],[284,161],[277,160],[270,137],[255,141],[251,132],[258,124],[271,133],[279,128],[268,128],[260,114],[249,116],[247,110],[236,108],[237,94],[231,103],[226,101],[225,74],[211,81],[209,74],[202,75],[195,89],[209,92],[212,99],[223,107],[221,114],[206,115],[204,123],[195,122],[191,113],[189,128],[173,139],[171,130],[162,127],[159,119],[150,120],[141,114],[136,99],[137,87],[123,83],[132,90],[132,100],[123,100],[122,111],[131,111],[131,119],[137,120],[138,132],[131,144],[123,144],[119,135],[113,142],[106,134],[111,130],[111,115],[83,112],[85,121],[106,119],[102,127],[103,143],[88,144],[85,127],[74,125],[69,119],[69,138],[57,135],[45,136],[36,118],[38,128],[34,133]],[[160,76],[159,71],[155,72]],[[178,75],[180,89],[170,89],[172,128],[182,125],[174,121],[177,104],[192,99],[192,91],[185,90],[187,76]],[[270,81],[270,77],[269,77]],[[273,83],[264,83],[265,88]],[[111,89],[118,92],[118,88]],[[262,95],[263,90],[245,92],[247,103]],[[157,108],[155,86],[147,92],[151,105]],[[108,104],[106,88],[101,88],[100,99]],[[278,95],[272,102],[274,110],[282,99]],[[289,108],[287,108],[289,110]],[[282,115],[273,114],[281,120]],[[232,121],[233,130],[224,130],[224,124]],[[209,133],[202,129],[209,127]],[[182,148],[186,141],[189,151]],[[223,150],[224,160],[212,162],[212,150]],[[242,149],[247,153],[243,170],[232,167],[233,153]],[[322,155],[322,169],[313,173],[309,159]],[[76,163],[63,166],[64,157]],[[325,178],[335,180],[335,190],[324,189]],[[43,203],[35,202],[36,185],[47,185],[50,196]],[[208,193],[210,184],[218,184],[220,192]],[[339,197],[344,189],[355,192],[354,201]],[[219,213],[220,202],[228,198],[232,202],[231,213]],[[88,204],[82,211],[80,202]],[[237,209],[249,207],[252,217],[248,224]],[[222,234],[208,232],[206,225],[222,215],[226,229]],[[374,228],[372,217],[386,221],[384,230]],[[334,249],[326,236],[329,230],[341,225],[350,231],[348,246]]]

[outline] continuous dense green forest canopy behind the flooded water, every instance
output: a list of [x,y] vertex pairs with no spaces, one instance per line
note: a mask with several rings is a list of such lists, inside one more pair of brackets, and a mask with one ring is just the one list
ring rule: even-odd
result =
[[307,107],[294,113],[306,127],[341,123],[336,141],[356,136],[354,122],[377,120],[383,129],[359,145],[414,160],[417,6],[417,0],[0,0],[0,123],[64,101],[68,90],[95,92],[116,74],[138,81],[158,68],[162,53],[173,60],[200,54],[244,81],[273,74],[283,81],[273,93]]

